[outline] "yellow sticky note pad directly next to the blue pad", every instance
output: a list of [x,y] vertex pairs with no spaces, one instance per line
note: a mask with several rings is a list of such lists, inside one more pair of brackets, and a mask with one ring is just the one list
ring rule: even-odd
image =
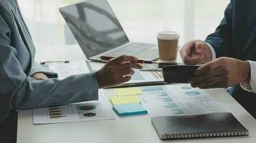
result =
[[112,104],[129,104],[129,103],[140,103],[137,96],[124,96],[124,97],[110,97]]

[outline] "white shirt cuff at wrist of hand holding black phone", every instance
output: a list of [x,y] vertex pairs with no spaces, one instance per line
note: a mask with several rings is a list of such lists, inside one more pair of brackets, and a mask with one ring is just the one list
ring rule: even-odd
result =
[[250,71],[251,71],[251,80],[250,84],[247,83],[240,83],[242,89],[246,90],[247,92],[255,92],[256,93],[256,61],[248,61],[250,64]]

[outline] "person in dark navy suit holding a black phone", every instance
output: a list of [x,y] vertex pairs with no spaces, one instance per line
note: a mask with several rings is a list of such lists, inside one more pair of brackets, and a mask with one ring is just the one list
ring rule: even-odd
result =
[[203,64],[192,87],[235,87],[234,99],[256,118],[255,7],[254,0],[231,0],[216,31],[205,41],[189,41],[180,54],[186,64]]

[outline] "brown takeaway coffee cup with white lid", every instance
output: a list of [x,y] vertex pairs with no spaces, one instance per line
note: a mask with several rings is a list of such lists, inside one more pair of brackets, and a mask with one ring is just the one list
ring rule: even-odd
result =
[[161,31],[157,34],[159,59],[164,61],[177,59],[179,38],[180,35],[175,31]]

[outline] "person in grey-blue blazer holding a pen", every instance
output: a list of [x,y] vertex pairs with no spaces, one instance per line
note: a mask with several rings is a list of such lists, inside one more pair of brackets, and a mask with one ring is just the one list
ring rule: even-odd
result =
[[35,47],[16,0],[0,0],[0,142],[16,142],[17,109],[98,99],[98,89],[127,82],[133,56],[112,59],[99,71],[63,80],[35,63]]

